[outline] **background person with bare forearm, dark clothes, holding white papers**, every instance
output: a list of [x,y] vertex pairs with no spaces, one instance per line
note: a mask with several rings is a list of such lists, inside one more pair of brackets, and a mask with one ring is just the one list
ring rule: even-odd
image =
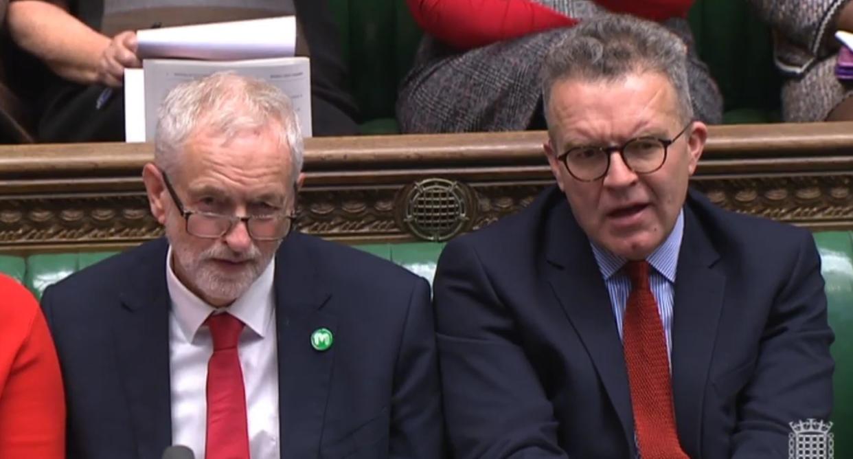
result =
[[136,30],[294,14],[296,54],[311,61],[314,136],[356,134],[357,109],[325,0],[12,0],[8,20],[20,49],[52,72],[44,91],[31,88],[39,93],[38,141],[116,142],[125,140],[125,68],[142,66]]

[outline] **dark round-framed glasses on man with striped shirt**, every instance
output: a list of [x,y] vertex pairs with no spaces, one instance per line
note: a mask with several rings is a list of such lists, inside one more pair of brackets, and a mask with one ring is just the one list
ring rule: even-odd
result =
[[684,129],[671,139],[658,137],[635,137],[622,145],[613,147],[582,146],[569,148],[557,156],[566,170],[582,182],[595,182],[607,175],[613,153],[622,156],[625,166],[637,174],[650,174],[659,170],[666,162],[667,150],[693,125],[690,121]]

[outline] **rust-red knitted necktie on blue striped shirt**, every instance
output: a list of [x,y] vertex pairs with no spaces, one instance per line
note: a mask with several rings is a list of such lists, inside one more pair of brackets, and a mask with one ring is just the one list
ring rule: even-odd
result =
[[625,364],[642,459],[688,459],[676,433],[670,363],[658,302],[648,285],[648,263],[625,264],[631,293],[622,329]]

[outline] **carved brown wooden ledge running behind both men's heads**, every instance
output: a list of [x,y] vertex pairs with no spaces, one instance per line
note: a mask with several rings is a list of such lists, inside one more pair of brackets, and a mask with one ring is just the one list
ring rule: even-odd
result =
[[[310,139],[300,230],[413,240],[412,183],[461,183],[479,229],[527,206],[552,177],[543,132]],[[115,248],[162,235],[140,171],[147,144],[0,147],[0,252]],[[853,229],[853,124],[714,126],[693,187],[718,205],[811,229]]]

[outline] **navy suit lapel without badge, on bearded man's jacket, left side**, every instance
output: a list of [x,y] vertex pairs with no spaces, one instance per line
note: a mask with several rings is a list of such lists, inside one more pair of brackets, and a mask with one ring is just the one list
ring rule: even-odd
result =
[[117,365],[140,458],[160,457],[171,444],[168,246],[165,240],[149,244],[133,260],[135,269],[121,294],[122,307],[113,315]]

